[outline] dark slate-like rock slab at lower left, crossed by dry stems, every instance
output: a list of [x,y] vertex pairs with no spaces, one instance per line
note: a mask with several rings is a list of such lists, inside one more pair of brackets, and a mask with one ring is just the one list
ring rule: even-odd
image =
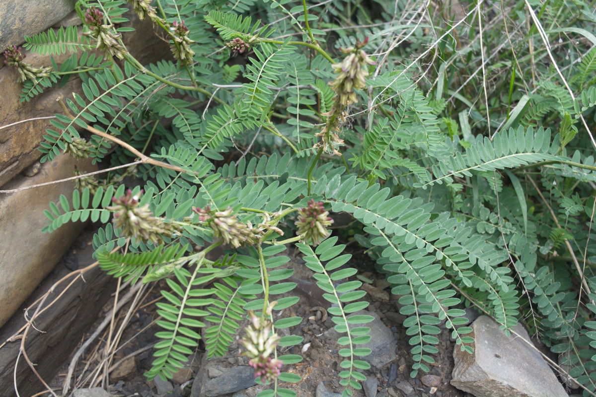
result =
[[[92,233],[85,232],[75,243],[75,246],[78,247],[75,255],[81,267],[87,267],[95,262],[91,257],[94,252],[92,246],[86,245],[89,241],[87,239],[91,237]],[[84,248],[80,248],[81,246],[84,246]],[[27,299],[24,305],[29,306],[32,304],[33,301],[48,291],[57,280],[69,273],[70,271],[66,267],[59,264],[35,290],[35,293]],[[116,282],[105,271],[95,267],[85,273],[84,280],[76,280],[66,291],[64,286],[63,283],[57,287],[50,297],[58,296],[63,292],[64,295],[61,295],[61,298],[52,307],[35,320],[37,329],[43,330],[45,333],[39,333],[31,329],[27,335],[27,354],[30,360],[37,364],[36,368],[43,379],[54,379],[54,376],[58,374],[64,362],[63,360],[68,360],[70,353],[77,348],[80,339],[89,332],[90,324],[97,320],[101,308],[110,298],[110,293],[114,290],[114,287],[116,287]],[[1,293],[2,291],[0,291]],[[2,302],[2,304],[6,303]],[[33,312],[30,311],[29,314],[32,315]],[[23,324],[23,312],[16,312],[0,328],[0,340],[4,341],[13,336]],[[14,363],[20,343],[20,339],[8,342],[0,350],[0,390],[2,390],[0,396],[2,397],[16,396],[13,385]],[[45,390],[27,365],[21,367],[21,364],[19,364],[16,376],[18,391],[21,396],[32,396]]]

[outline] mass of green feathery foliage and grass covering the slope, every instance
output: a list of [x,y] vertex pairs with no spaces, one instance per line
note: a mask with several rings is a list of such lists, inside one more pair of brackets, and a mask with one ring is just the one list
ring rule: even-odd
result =
[[[151,212],[136,215],[175,232],[156,246],[114,228],[105,208],[125,187],[109,183],[113,174],[95,195],[86,187],[51,203],[44,232],[67,221],[101,221],[95,257],[108,273],[166,280],[149,379],[171,377],[201,336],[208,357],[224,355],[244,335],[249,311],[265,321],[272,301],[272,332],[300,324],[283,311],[300,304],[291,295],[294,269],[278,268],[295,244],[334,304],[343,396],[360,389],[370,353],[359,346],[370,339],[361,324],[371,318],[354,313],[370,299],[358,270],[347,266],[347,242],[333,230],[315,248],[294,226],[307,216],[321,226],[329,211],[349,214],[360,231],[353,239],[398,296],[412,376],[429,371],[442,332],[473,351],[462,317],[473,304],[506,333],[523,321],[561,355],[584,395],[594,395],[596,38],[589,32],[596,20],[581,2],[539,5],[539,22],[560,27],[546,30],[547,51],[536,21],[527,19],[530,3],[464,4],[461,23],[451,21],[452,8],[437,5],[420,23],[421,4],[408,2],[166,0],[157,29],[171,38],[173,21],[185,20],[192,62],[142,66],[130,54],[114,62],[84,51],[27,82],[21,100],[78,74],[83,96],[67,98],[72,114],[51,121],[42,161],[77,142],[80,129],[107,133],[92,136],[89,155],[106,167],[148,156],[129,170],[139,177],[132,194],[142,187],[138,205]],[[123,21],[122,5],[97,3],[108,23]],[[474,7],[489,23],[479,26]],[[95,46],[75,33],[52,31],[27,45],[54,55]],[[347,49],[365,37],[374,65],[359,64],[367,56]],[[234,39],[250,49],[222,49]],[[362,90],[334,91],[349,91],[359,79]],[[342,157],[321,149],[325,139],[335,140]],[[316,214],[302,210],[309,205]],[[316,233],[328,235],[324,226]],[[234,237],[241,246],[233,254],[205,258]],[[116,252],[122,246],[126,254]],[[273,355],[284,365],[299,362],[299,355],[278,354],[302,342],[281,337]],[[280,382],[299,379],[282,370],[259,397],[296,395]]]

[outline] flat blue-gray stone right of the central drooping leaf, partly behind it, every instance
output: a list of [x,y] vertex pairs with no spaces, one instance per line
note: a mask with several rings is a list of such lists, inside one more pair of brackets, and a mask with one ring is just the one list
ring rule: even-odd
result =
[[[398,342],[395,340],[395,337],[393,337],[391,330],[380,320],[377,313],[361,310],[350,314],[349,317],[361,314],[372,315],[374,320],[368,324],[350,324],[350,329],[362,326],[371,329],[368,334],[371,336],[370,342],[365,343],[364,345],[358,345],[358,347],[371,349],[371,354],[364,357],[363,360],[368,361],[371,365],[374,365],[374,367],[381,368],[395,360],[395,349]],[[327,330],[325,334],[327,334],[328,337],[335,337],[336,339],[343,336],[337,333],[333,328]]]

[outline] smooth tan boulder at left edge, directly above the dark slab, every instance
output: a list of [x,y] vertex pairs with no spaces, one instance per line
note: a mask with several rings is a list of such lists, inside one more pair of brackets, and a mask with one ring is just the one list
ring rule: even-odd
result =
[[[61,155],[53,162],[45,162],[35,176],[14,180],[1,189],[18,189],[72,177],[75,167],[85,171],[97,169],[91,165],[91,160],[79,161]],[[74,188],[75,181],[69,181],[0,194],[1,223],[10,225],[0,227],[0,326],[52,271],[83,228],[80,222],[69,222],[53,233],[41,232],[47,218],[39,215],[49,208],[50,201],[58,201],[61,194],[72,198]]]

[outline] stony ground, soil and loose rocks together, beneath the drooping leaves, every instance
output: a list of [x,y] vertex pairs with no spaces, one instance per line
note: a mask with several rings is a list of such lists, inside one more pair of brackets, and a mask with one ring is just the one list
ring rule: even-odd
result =
[[[282,383],[280,386],[294,390],[300,397],[340,397],[342,387],[339,385],[339,362],[342,358],[337,354],[340,346],[339,337],[334,331],[334,323],[327,315],[328,302],[322,299],[322,292],[314,285],[312,272],[303,265],[299,251],[285,252],[291,261],[284,265],[293,268],[290,280],[297,283],[292,292],[276,295],[281,298],[287,295],[300,296],[300,301],[293,307],[274,312],[278,318],[302,317],[298,326],[279,330],[280,335],[299,335],[304,340],[300,345],[284,348],[281,354],[300,354],[303,356],[299,364],[285,365],[283,371],[299,374],[302,380],[297,383]],[[473,397],[451,386],[454,368],[454,343],[450,340],[450,332],[443,329],[437,345],[439,353],[436,362],[430,366],[429,374],[421,373],[410,377],[412,361],[409,354],[411,348],[409,337],[402,327],[404,316],[396,307],[397,299],[390,295],[390,286],[374,270],[374,264],[367,257],[353,252],[354,257],[348,263],[358,269],[361,280],[367,280],[363,288],[367,291],[365,299],[370,302],[368,314],[375,320],[367,324],[371,328],[371,342],[366,347],[373,354],[365,360],[371,363],[370,370],[362,371],[367,377],[363,382],[363,390],[353,390],[356,397]],[[163,287],[163,285],[160,285]],[[195,356],[187,367],[176,374],[173,380],[163,382],[156,379],[147,382],[142,375],[150,368],[153,361],[152,350],[147,346],[156,342],[154,333],[159,331],[154,321],[158,317],[154,303],[160,299],[159,287],[156,286],[145,294],[141,310],[134,313],[131,324],[122,336],[125,345],[120,346],[113,363],[117,366],[111,371],[110,380],[104,388],[77,390],[76,397],[107,396],[142,396],[142,397],[254,397],[260,390],[271,386],[256,385],[253,370],[248,367],[248,359],[241,357],[238,335],[232,342],[225,357],[206,359],[203,346],[200,345]],[[470,320],[476,315],[470,311]],[[241,329],[247,321],[241,324]],[[94,367],[92,362],[98,357],[97,351],[91,350],[83,360],[87,370]],[[84,364],[80,365],[83,368]],[[82,371],[79,369],[79,373]],[[66,373],[66,369],[61,371]],[[63,377],[58,376],[52,383],[58,389]],[[100,385],[101,386],[101,385]],[[107,394],[108,390],[110,394]],[[97,394],[95,394],[97,393]],[[548,397],[548,396],[545,396]]]

